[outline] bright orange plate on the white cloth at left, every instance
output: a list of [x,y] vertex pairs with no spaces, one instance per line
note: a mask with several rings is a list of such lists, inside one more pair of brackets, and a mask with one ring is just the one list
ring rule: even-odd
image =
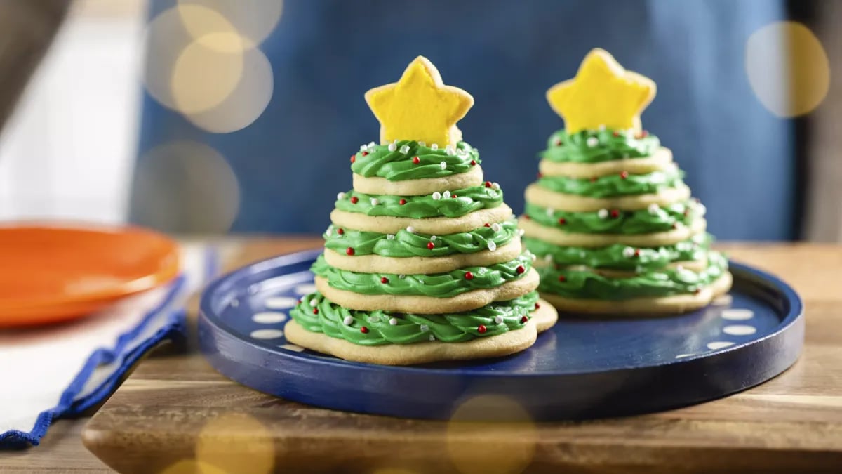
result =
[[0,227],[0,327],[88,315],[179,273],[179,248],[132,227]]

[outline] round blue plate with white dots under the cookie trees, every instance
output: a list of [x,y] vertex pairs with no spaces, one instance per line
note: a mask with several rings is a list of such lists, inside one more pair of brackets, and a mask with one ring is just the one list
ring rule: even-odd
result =
[[[221,374],[287,400],[349,412],[450,418],[462,401],[514,401],[535,420],[682,407],[758,385],[795,363],[802,301],[786,283],[732,263],[730,294],[686,315],[564,316],[507,358],[413,367],[347,362],[286,342],[288,311],[313,288],[321,250],[243,267],[205,290],[200,347]],[[492,416],[493,414],[493,416]],[[499,417],[485,407],[469,417]],[[505,417],[505,415],[503,415]]]

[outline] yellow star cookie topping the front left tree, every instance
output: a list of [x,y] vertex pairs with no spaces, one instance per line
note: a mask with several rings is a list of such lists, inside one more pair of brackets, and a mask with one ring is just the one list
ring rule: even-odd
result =
[[446,86],[439,70],[422,56],[409,63],[397,83],[366,92],[365,101],[380,121],[381,143],[417,140],[441,147],[461,140],[456,121],[473,105],[471,94]]

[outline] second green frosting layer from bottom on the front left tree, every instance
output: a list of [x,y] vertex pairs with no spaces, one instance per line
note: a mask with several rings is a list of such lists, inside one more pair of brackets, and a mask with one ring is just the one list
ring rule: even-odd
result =
[[[488,267],[465,267],[432,275],[396,275],[392,273],[359,273],[328,265],[324,256],[313,262],[311,271],[328,279],[333,288],[357,294],[424,295],[450,298],[480,288],[497,288],[525,276],[532,267],[532,258],[524,253],[514,260]],[[470,277],[468,277],[470,273]],[[386,282],[382,281],[386,278]]]

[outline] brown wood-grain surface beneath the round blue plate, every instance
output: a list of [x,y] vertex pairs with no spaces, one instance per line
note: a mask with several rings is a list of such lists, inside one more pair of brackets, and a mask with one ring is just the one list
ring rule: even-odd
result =
[[[253,240],[226,267],[318,244]],[[722,245],[783,277],[807,306],[802,358],[752,390],[695,407],[506,426],[332,412],[216,374],[193,347],[143,361],[97,415],[62,420],[0,471],[807,472],[842,466],[842,246]],[[88,423],[85,426],[85,423]],[[120,436],[114,436],[119,423]],[[80,439],[81,438],[81,439]],[[209,472],[216,472],[210,470]]]

